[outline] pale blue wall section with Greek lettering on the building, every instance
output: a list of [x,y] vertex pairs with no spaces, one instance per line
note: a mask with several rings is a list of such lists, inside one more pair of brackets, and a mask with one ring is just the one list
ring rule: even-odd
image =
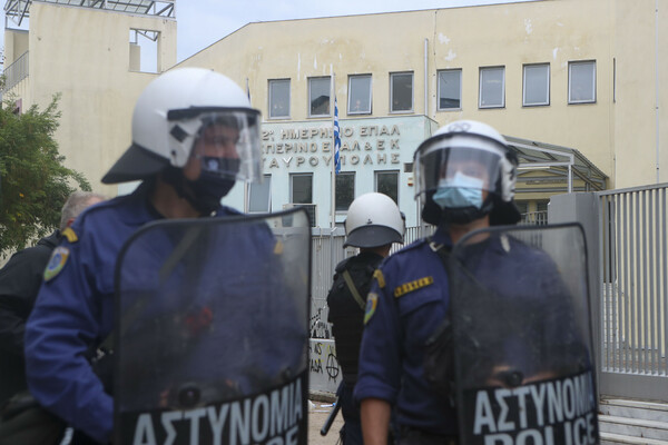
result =
[[[436,122],[413,115],[341,119],[338,123],[341,171],[354,174],[354,195],[376,191],[376,174],[396,174],[399,208],[406,215],[406,225],[415,226],[413,172],[406,167],[413,161],[418,146],[436,129]],[[330,225],[333,127],[331,119],[262,123],[263,172],[272,177],[273,209],[292,202],[291,175],[311,175],[312,202],[317,205],[314,220],[318,227]],[[341,224],[345,214],[335,218]]]

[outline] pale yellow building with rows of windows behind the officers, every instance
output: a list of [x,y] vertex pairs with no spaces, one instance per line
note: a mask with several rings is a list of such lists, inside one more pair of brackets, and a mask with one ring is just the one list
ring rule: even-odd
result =
[[[236,187],[235,207],[261,210],[267,192],[273,210],[310,199],[317,225],[328,226],[333,83],[342,172],[353,176],[352,189],[342,186],[353,195],[390,187],[416,224],[418,144],[442,125],[477,119],[515,146],[517,199],[540,210],[557,192],[668,181],[667,8],[542,0],[256,22],[175,65],[178,18],[33,1],[29,31],[6,30],[6,67],[28,50],[30,70],[4,95],[26,107],[61,92],[61,152],[94,187],[115,192],[97,179],[129,145],[134,101],[155,76],[130,69],[127,34],[154,30],[158,72],[223,72],[262,111],[268,189]],[[311,197],[302,190],[310,175]],[[338,194],[337,209],[346,201]]]

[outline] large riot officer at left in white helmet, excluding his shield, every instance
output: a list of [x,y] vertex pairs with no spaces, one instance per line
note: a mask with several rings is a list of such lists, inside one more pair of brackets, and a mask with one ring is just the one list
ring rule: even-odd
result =
[[88,356],[112,329],[121,246],[150,221],[237,215],[220,199],[236,180],[261,177],[258,126],[244,91],[212,70],[168,71],[138,98],[132,144],[102,182],[141,184],[77,219],[45,271],[26,330],[32,394],[81,441],[111,438],[114,400]]

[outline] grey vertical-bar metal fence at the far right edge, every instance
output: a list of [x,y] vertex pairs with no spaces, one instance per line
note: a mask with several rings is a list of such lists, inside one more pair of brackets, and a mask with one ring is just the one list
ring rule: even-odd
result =
[[668,185],[597,192],[601,380],[668,400]]

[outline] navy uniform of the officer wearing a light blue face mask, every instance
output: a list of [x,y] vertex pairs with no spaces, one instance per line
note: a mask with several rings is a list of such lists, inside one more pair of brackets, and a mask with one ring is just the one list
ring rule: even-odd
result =
[[[380,398],[395,406],[400,435],[419,436],[415,443],[448,444],[455,441],[458,434],[450,397],[439,395],[424,376],[425,344],[445,319],[451,304],[450,277],[434,251],[439,246],[451,248],[443,226],[431,243],[419,240],[381,265],[369,294],[355,387],[358,402]],[[511,260],[502,261],[501,257]],[[532,308],[544,307],[534,320],[549,326],[536,326],[536,329],[548,330],[551,342],[563,344],[577,337],[560,334],[560,328],[570,330],[571,325],[563,324],[569,315],[552,310],[557,306],[549,303],[559,300],[566,290],[544,254],[509,238],[492,237],[475,247],[468,266],[473,274],[484,274],[489,278],[487,283],[500,295],[513,295],[520,289],[520,299],[533,298],[538,304]],[[533,277],[529,283],[518,283],[519,267],[528,268],[522,276]],[[504,348],[505,356],[520,357],[518,366],[530,362],[524,354],[527,345],[504,337],[502,326],[497,325],[489,332],[500,338],[498,344]]]

